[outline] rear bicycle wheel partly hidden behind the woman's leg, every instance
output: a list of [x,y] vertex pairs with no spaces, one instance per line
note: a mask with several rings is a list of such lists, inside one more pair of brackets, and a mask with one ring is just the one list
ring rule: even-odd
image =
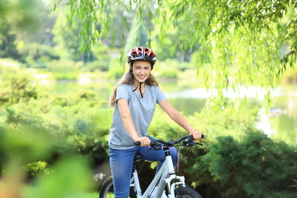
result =
[[[114,191],[113,191],[113,180],[112,177],[108,177],[102,184],[99,198],[113,198]],[[137,198],[135,191],[132,187],[130,187],[129,191],[130,198]]]

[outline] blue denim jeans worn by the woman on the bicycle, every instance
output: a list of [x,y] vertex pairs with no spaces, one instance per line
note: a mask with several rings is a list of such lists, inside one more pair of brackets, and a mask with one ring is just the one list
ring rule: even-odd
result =
[[[156,140],[156,138],[147,136],[150,140]],[[163,146],[163,145],[162,145]],[[173,148],[175,151],[176,149]],[[142,159],[148,161],[160,161],[157,167],[157,172],[161,168],[165,161],[165,151],[163,149],[155,151],[148,150],[149,147],[137,146],[128,150],[116,150],[109,148],[109,162],[111,175],[113,179],[114,197],[115,198],[128,198],[130,189],[130,179],[133,168],[133,160],[136,153],[142,155]],[[176,153],[170,149],[173,164],[176,163]],[[175,166],[175,165],[174,165]],[[157,173],[156,173],[157,174]]]

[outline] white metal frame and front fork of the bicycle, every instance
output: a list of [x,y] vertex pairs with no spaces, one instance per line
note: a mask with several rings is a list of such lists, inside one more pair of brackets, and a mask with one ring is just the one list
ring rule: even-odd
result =
[[[149,193],[155,187],[155,185],[157,184],[157,182],[160,178],[161,179],[160,179],[159,185],[156,187],[157,192],[156,192],[155,198],[161,198],[166,184],[167,184],[167,188],[168,188],[168,198],[175,198],[174,190],[175,190],[176,186],[186,187],[185,182],[184,182],[184,180],[185,180],[184,176],[175,175],[171,155],[166,156],[166,160],[164,161],[162,167],[160,168],[157,175],[155,176],[155,178],[153,179],[153,181],[151,182],[151,184],[149,185],[149,187],[146,189],[146,191],[143,193],[142,196],[141,196],[141,189],[140,189],[140,185],[139,185],[137,172],[133,171],[132,173],[133,173],[133,177],[131,178],[131,181],[130,181],[130,187],[134,187],[134,190],[136,190],[136,192],[137,192],[138,198],[148,197]],[[169,175],[169,173],[171,173],[171,174]],[[169,177],[166,178],[167,176],[169,176]],[[175,182],[170,185],[170,181],[173,179],[179,180],[179,182]]]

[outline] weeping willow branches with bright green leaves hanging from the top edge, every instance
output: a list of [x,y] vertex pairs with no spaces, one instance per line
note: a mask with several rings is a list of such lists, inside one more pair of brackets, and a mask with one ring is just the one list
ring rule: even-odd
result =
[[[225,106],[228,86],[238,92],[241,85],[260,85],[269,105],[271,88],[276,85],[280,73],[296,62],[297,0],[158,0],[152,4],[154,2],[149,0],[69,0],[66,16],[68,21],[80,19],[81,52],[88,51],[102,34],[113,38],[113,47],[120,28],[122,61],[125,57],[124,31],[129,30],[125,12],[135,12],[138,23],[147,27],[148,46],[153,21],[162,21],[160,32],[165,38],[182,20],[184,28],[177,30],[175,45],[181,45],[185,50],[200,43],[200,65],[214,71],[214,81],[207,84],[214,88],[214,97],[208,100],[208,104],[219,101]],[[167,15],[171,17],[168,19]],[[116,17],[119,20],[114,20]],[[101,25],[100,34],[96,29],[98,23]],[[279,47],[284,43],[290,46],[290,51],[281,57]],[[207,73],[205,78],[208,79]]]

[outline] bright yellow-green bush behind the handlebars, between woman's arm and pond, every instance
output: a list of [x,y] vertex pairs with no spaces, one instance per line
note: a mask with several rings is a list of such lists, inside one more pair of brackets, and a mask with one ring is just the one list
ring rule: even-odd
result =
[[[232,107],[228,107],[224,111],[203,109],[201,113],[196,112],[192,116],[187,116],[186,119],[194,129],[202,130],[206,135],[206,138],[201,141],[210,144],[216,141],[216,137],[222,135],[232,135],[236,140],[243,140],[245,132],[250,128],[255,128],[257,112],[257,108],[248,112],[237,112]],[[188,134],[161,108],[156,108],[148,131],[158,138],[167,139],[179,138]]]

